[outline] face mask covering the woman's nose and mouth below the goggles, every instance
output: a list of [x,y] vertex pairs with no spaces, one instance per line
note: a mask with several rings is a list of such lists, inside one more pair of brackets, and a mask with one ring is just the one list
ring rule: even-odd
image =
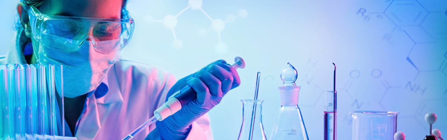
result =
[[[120,40],[88,41],[72,40],[51,34],[47,42],[33,40],[33,51],[39,64],[63,65],[64,96],[74,98],[89,93],[101,84],[110,67],[119,60],[119,51],[101,53],[96,47],[114,47]],[[81,45],[76,45],[80,44]],[[58,47],[79,46],[73,51],[60,51]],[[58,77],[56,77],[58,78]],[[59,77],[60,78],[60,77]]]

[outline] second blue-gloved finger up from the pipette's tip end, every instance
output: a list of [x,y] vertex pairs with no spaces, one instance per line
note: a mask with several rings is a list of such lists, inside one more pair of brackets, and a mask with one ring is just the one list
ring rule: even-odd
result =
[[205,70],[200,70],[197,73],[198,74],[196,75],[196,77],[202,80],[205,85],[207,85],[212,97],[218,99],[223,97],[222,83],[220,82],[219,78]]

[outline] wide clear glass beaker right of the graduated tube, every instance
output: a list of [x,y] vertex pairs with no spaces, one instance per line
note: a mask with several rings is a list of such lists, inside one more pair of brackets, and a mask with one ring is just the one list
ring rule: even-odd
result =
[[393,140],[397,127],[394,111],[353,111],[352,140]]

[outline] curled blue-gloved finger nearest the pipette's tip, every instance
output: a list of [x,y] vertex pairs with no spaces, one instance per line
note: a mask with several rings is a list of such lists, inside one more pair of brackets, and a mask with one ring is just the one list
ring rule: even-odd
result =
[[205,83],[197,77],[188,78],[186,84],[197,92],[196,100],[199,104],[203,105],[203,102],[205,102],[207,96],[210,96],[210,90],[208,89],[207,85],[205,85]]

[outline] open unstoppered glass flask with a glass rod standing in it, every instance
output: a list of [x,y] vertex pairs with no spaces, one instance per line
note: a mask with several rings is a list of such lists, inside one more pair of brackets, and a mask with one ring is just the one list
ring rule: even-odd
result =
[[242,102],[242,126],[237,140],[267,140],[262,126],[263,100],[240,100]]

